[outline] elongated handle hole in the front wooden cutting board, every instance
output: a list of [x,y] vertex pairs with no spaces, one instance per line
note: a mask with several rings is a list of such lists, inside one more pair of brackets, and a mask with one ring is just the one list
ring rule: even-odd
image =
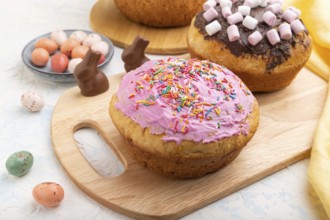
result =
[[84,127],[74,132],[78,149],[94,170],[103,177],[116,177],[125,167],[111,146],[94,128]]

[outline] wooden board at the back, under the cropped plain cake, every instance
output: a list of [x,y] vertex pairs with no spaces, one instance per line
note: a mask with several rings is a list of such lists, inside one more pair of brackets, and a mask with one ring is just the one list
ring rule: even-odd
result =
[[178,28],[151,28],[126,19],[113,0],[99,0],[90,12],[91,27],[110,38],[116,46],[126,48],[137,35],[150,41],[147,53],[187,53],[188,26]]

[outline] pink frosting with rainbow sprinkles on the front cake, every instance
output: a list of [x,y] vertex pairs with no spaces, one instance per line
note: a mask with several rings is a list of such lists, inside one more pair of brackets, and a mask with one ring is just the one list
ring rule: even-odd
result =
[[152,60],[124,75],[116,108],[163,141],[247,135],[254,96],[230,70],[196,59]]

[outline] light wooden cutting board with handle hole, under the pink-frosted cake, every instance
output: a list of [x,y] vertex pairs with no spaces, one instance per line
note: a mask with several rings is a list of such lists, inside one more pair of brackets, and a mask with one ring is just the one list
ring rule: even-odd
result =
[[[227,167],[193,180],[173,180],[138,164],[108,114],[109,101],[122,75],[109,78],[111,88],[83,97],[78,87],[59,99],[51,122],[54,151],[72,180],[86,194],[134,218],[176,219],[256,182],[310,154],[327,84],[303,69],[287,88],[256,94],[259,128],[240,155]],[[73,133],[98,130],[125,166],[117,177],[99,175],[80,153]]]

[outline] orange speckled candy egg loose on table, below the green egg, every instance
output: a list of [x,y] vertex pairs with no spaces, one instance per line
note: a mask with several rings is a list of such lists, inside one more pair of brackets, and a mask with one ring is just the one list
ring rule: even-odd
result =
[[64,198],[62,186],[54,182],[44,182],[33,188],[34,200],[45,207],[56,207]]

